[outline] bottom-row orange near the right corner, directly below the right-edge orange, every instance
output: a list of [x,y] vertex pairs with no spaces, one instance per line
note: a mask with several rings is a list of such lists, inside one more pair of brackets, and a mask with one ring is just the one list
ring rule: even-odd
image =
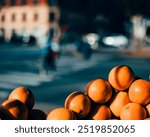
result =
[[146,110],[138,103],[128,103],[120,112],[121,120],[143,120],[145,118]]

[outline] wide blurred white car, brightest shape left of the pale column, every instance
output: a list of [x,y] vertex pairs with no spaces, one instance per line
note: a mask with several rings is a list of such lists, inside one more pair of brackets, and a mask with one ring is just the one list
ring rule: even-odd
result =
[[126,48],[129,44],[128,38],[121,34],[106,36],[102,39],[102,42],[105,46],[112,46],[121,49]]

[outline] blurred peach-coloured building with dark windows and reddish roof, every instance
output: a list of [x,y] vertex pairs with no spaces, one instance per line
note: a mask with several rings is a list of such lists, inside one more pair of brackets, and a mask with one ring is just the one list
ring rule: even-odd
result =
[[56,0],[0,0],[0,31],[6,41],[14,35],[31,36],[42,46],[49,35],[60,38],[60,12]]

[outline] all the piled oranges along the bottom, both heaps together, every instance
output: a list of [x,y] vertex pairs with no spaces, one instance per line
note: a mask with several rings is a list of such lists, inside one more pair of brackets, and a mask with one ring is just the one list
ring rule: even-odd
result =
[[115,66],[108,80],[91,80],[84,92],[74,91],[64,107],[48,114],[34,109],[35,97],[25,87],[14,89],[0,106],[1,119],[22,120],[150,120],[150,82],[127,65]]

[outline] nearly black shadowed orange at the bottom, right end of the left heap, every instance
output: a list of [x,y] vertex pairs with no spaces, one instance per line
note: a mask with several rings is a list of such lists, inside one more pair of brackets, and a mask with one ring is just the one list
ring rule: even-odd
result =
[[40,109],[32,109],[29,111],[29,120],[45,120],[46,114]]

